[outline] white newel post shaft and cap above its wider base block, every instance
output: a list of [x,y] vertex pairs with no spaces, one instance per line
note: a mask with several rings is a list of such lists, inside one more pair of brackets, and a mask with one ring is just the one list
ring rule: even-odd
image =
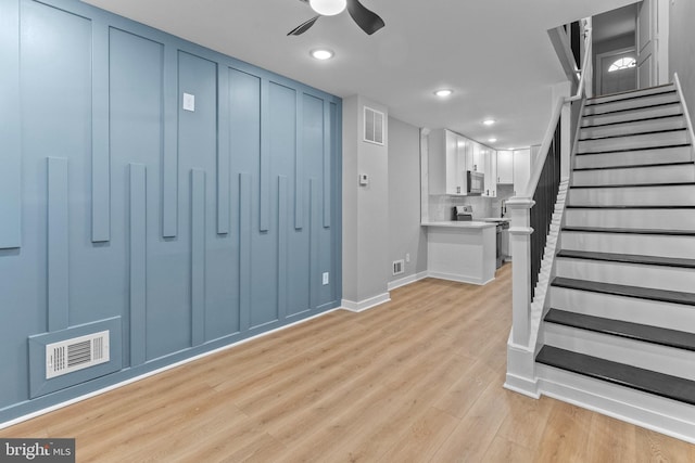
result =
[[511,342],[529,347],[531,332],[531,207],[530,197],[511,197],[507,210],[511,213],[509,240],[513,260],[513,326]]

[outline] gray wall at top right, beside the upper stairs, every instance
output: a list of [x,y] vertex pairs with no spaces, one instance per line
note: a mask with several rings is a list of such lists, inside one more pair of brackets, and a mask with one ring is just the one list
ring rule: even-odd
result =
[[678,73],[685,102],[695,120],[695,1],[673,0],[670,11],[669,65],[670,74]]

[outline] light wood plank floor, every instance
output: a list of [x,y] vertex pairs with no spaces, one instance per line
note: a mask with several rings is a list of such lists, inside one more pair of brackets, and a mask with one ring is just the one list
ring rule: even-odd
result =
[[78,462],[694,462],[695,446],[502,387],[510,266],[424,280],[0,430]]

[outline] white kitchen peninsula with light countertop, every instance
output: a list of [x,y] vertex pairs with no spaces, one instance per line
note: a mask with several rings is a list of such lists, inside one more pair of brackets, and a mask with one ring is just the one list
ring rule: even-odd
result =
[[427,268],[432,278],[485,284],[495,278],[493,222],[433,221],[427,227]]

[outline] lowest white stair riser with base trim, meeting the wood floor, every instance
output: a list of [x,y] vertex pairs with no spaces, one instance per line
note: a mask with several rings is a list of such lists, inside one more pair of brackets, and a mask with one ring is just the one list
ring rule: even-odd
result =
[[695,407],[538,364],[542,395],[695,443]]

